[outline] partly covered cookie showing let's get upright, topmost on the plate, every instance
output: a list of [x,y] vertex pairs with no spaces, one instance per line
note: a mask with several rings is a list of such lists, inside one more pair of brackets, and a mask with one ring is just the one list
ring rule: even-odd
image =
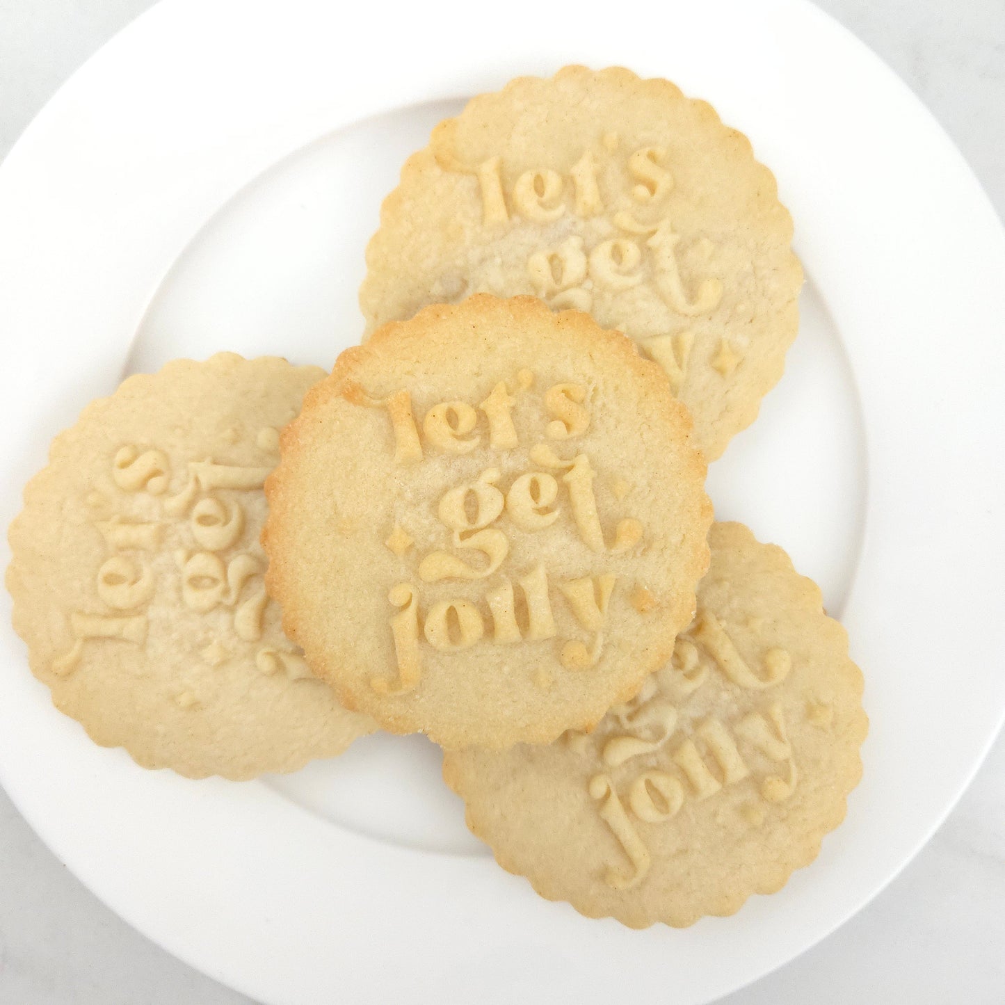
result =
[[476,291],[587,311],[660,363],[715,459],[795,338],[791,240],[774,177],[710,105],[567,66],[475,97],[408,159],[360,305],[370,330]]

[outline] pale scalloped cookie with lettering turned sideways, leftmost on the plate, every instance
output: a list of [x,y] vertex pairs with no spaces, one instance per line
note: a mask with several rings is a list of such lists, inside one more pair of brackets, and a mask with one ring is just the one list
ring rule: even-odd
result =
[[146,768],[292,771],[375,724],[265,596],[262,483],[325,372],[223,353],[130,377],[56,437],[11,525],[14,627],[56,708]]

